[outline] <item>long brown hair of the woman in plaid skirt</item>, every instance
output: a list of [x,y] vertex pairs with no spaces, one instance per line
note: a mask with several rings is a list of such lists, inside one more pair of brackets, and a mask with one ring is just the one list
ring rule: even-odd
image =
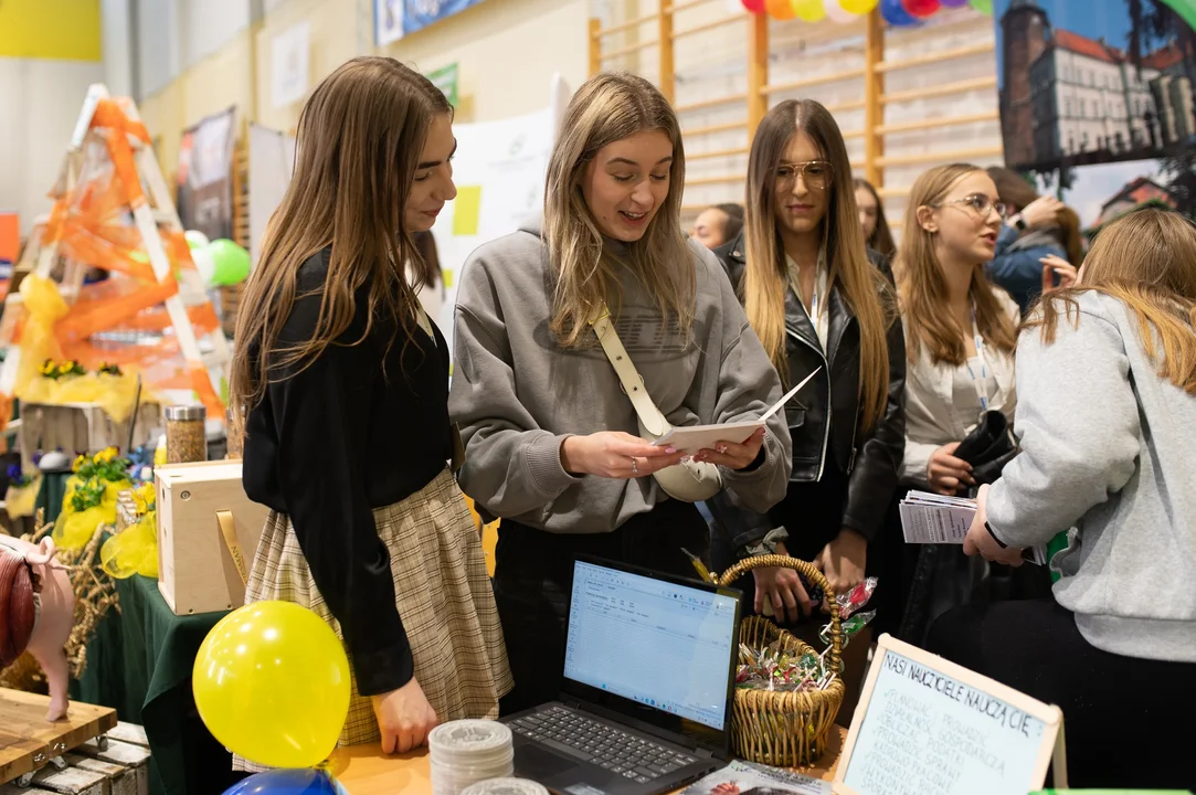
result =
[[[396,319],[396,334],[401,328],[410,338],[416,296],[404,268],[414,247],[403,206],[428,127],[450,112],[427,78],[389,57],[353,59],[312,92],[299,116],[294,176],[245,285],[242,302],[252,311],[237,317],[230,384],[234,423],[262,399],[271,371],[310,366],[344,334],[362,286],[368,286],[368,319],[361,340],[380,318]],[[329,246],[316,332],[275,350],[301,298],[295,294],[300,265]]]

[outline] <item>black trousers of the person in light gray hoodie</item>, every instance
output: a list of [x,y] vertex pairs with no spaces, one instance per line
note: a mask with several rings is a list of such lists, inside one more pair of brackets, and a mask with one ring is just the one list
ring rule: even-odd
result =
[[1196,788],[1196,663],[1102,652],[1054,599],[957,607],[927,648],[1062,709],[1069,787]]

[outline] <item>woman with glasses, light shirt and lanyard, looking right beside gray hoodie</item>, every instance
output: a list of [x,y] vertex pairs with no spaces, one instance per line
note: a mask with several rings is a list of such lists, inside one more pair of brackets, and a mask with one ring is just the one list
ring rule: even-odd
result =
[[[910,191],[895,265],[909,356],[902,493],[956,495],[975,485],[971,465],[953,455],[959,442],[987,411],[1013,422],[1020,311],[984,274],[1003,213],[993,179],[968,164],[930,169]],[[989,573],[958,545],[905,545],[895,513],[886,561],[890,571],[904,569],[908,591],[890,592],[897,599],[881,609],[891,629],[919,643],[929,622],[987,587]],[[899,629],[893,613],[903,613]]]

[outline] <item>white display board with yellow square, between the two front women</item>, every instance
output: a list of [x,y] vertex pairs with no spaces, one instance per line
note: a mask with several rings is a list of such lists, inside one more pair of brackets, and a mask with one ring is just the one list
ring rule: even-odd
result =
[[465,259],[483,243],[515,232],[543,212],[544,173],[569,96],[565,80],[556,74],[548,106],[542,111],[496,122],[453,124],[457,198],[445,206],[432,228],[445,279],[444,304],[433,319],[450,350],[457,281]]

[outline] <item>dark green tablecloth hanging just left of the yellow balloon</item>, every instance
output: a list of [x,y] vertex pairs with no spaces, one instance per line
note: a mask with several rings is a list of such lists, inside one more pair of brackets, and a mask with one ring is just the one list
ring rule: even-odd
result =
[[195,709],[191,668],[200,643],[225,613],[175,616],[158,581],[141,576],[118,580],[117,594],[121,612],[110,612],[97,629],[74,696],[145,726],[151,793],[222,793],[239,776]]

